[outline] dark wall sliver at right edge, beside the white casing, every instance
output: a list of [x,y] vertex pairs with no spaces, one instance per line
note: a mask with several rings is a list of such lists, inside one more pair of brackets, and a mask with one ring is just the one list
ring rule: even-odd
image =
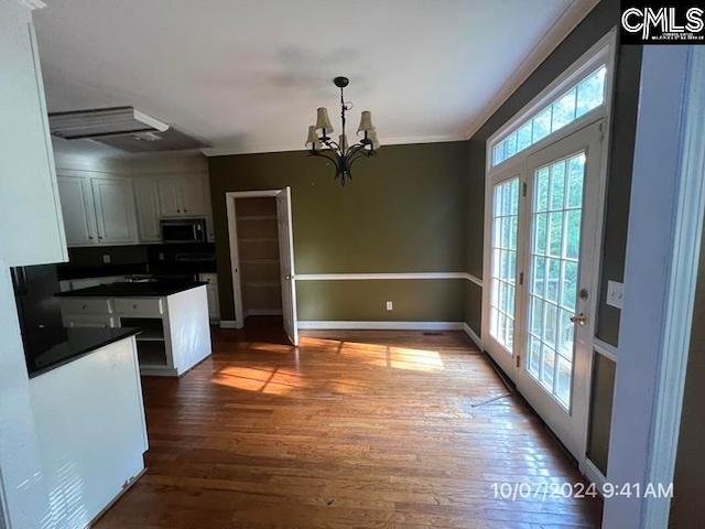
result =
[[[705,242],[705,241],[704,241]],[[671,522],[674,529],[703,527],[705,503],[705,244],[701,244],[693,326],[683,395],[681,431],[673,477]]]

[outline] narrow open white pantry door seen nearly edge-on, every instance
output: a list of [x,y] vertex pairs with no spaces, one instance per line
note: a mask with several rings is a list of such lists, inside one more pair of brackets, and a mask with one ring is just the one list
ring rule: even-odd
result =
[[284,331],[291,343],[299,345],[296,320],[296,283],[294,281],[294,239],[292,234],[291,187],[276,195],[276,218],[279,223],[279,262],[282,280],[282,312]]

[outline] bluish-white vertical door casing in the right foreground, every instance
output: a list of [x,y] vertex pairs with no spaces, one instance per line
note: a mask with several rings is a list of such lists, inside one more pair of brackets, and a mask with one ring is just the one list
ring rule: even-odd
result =
[[[674,248],[683,182],[683,95],[691,48],[644,46],[643,52],[607,468],[608,483],[640,484],[642,494],[606,499],[605,528],[666,527],[668,498],[644,497],[643,490],[650,483],[668,487],[673,478],[675,445],[669,450],[654,446],[664,446],[664,440],[674,438],[673,431],[663,429],[662,403],[682,399],[682,387],[679,389],[672,377],[675,374],[663,370],[670,368],[670,355],[683,355],[682,350],[670,350],[668,341],[679,332],[677,326],[690,326],[690,315],[673,325],[669,302],[674,293],[672,272],[684,258]],[[702,144],[697,149],[702,151]],[[679,295],[676,304],[684,305],[687,298]],[[691,310],[692,304],[686,312]],[[677,424],[677,417],[674,419]]]

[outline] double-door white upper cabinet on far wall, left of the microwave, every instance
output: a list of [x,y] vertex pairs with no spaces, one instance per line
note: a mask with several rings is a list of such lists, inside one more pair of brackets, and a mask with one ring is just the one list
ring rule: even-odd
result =
[[68,246],[138,244],[130,179],[61,174],[58,188]]

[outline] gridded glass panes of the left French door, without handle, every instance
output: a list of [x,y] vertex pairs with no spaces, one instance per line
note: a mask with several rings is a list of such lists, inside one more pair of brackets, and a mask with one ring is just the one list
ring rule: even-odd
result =
[[513,350],[517,277],[519,177],[495,186],[492,195],[489,332],[509,353]]

